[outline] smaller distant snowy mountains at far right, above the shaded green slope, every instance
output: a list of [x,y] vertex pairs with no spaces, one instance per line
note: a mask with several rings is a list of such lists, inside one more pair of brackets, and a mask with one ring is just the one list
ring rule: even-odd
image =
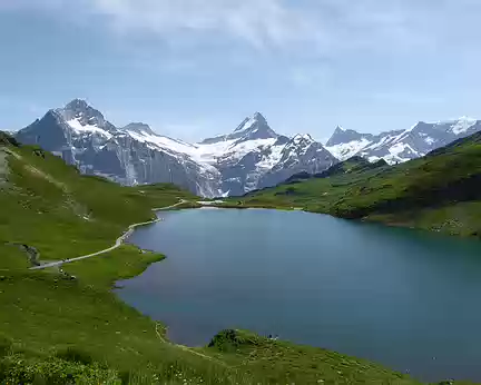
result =
[[360,134],[337,127],[326,142],[326,149],[340,160],[359,155],[370,161],[382,158],[393,165],[422,157],[480,130],[481,121],[467,117],[434,124],[420,121],[406,130],[380,135]]

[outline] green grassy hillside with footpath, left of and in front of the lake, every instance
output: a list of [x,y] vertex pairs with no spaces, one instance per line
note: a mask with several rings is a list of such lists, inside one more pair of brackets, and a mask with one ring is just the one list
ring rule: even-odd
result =
[[[209,346],[169,343],[121,303],[116,280],[161,255],[104,249],[156,207],[196,197],[170,185],[120,187],[0,134],[0,384],[418,384],[333,352],[225,330]],[[39,254],[39,256],[38,256]],[[75,277],[72,277],[75,276]]]

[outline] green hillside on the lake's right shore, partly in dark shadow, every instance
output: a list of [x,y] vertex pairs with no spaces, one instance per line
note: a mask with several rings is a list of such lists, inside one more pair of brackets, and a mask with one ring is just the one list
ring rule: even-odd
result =
[[316,176],[232,198],[237,207],[303,208],[450,235],[481,236],[481,134],[397,166],[355,157]]

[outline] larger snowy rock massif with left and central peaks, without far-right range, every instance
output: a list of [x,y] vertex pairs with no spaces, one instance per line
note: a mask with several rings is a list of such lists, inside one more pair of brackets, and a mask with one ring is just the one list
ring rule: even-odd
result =
[[173,182],[206,197],[243,195],[337,161],[308,135],[277,135],[259,112],[232,134],[187,144],[141,122],[116,127],[76,99],[49,110],[16,137],[61,156],[84,174],[124,185]]

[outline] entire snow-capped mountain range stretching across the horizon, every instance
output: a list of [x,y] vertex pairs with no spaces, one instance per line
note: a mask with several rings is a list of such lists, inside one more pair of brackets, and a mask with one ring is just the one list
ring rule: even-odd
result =
[[240,196],[275,186],[298,172],[317,174],[362,156],[389,164],[410,160],[481,130],[481,121],[419,122],[380,135],[337,127],[325,144],[310,135],[275,132],[259,112],[230,134],[188,144],[156,134],[148,125],[116,127],[85,100],[49,110],[16,138],[39,145],[82,174],[134,186],[173,182],[205,197]]

